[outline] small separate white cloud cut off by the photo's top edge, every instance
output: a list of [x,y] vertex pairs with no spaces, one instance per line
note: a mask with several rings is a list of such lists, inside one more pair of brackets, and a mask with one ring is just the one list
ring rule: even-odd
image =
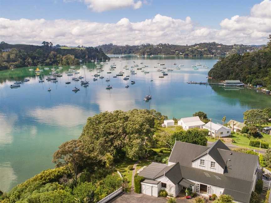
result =
[[[73,0],[84,2],[87,7],[95,12],[104,12],[109,10],[116,10],[122,8],[141,8],[142,2],[135,0]],[[71,2],[71,0],[64,0],[64,2]]]

